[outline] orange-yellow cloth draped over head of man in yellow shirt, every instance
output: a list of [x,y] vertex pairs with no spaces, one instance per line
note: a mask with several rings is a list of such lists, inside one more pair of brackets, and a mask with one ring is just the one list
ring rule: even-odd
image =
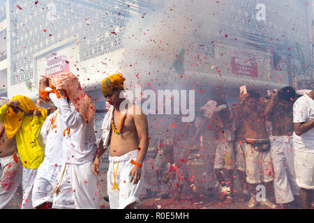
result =
[[12,139],[17,131],[20,130],[25,112],[29,113],[34,109],[38,109],[44,120],[47,118],[47,110],[41,107],[36,107],[35,103],[26,96],[16,95],[11,100],[18,100],[20,102],[19,107],[24,112],[15,113],[11,107],[9,107],[8,112],[6,112],[6,115],[4,116],[4,128],[6,129],[6,134],[9,139]]

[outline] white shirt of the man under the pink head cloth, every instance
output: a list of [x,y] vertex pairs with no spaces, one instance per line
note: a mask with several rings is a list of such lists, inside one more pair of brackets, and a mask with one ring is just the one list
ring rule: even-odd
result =
[[84,164],[94,160],[96,154],[96,135],[94,119],[85,123],[75,107],[68,105],[66,98],[59,98],[63,123],[70,128],[70,134],[63,137],[63,160],[70,164]]

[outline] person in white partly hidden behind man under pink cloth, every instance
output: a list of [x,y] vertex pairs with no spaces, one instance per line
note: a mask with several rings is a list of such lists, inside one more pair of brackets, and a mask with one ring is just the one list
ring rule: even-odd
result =
[[[40,79],[40,83],[45,82],[45,86],[49,86],[49,80],[45,77]],[[33,183],[33,207],[38,209],[48,209],[52,207],[54,187],[57,187],[58,176],[63,167],[62,141],[63,130],[66,129],[60,112],[60,103],[56,93],[53,93],[50,87],[46,87],[47,98],[57,107],[56,111],[48,116],[43,123],[40,134],[45,140],[45,158],[40,164],[36,178]],[[43,92],[42,92],[43,93]],[[69,197],[72,192],[63,192],[64,197]],[[65,198],[66,199],[66,198]]]

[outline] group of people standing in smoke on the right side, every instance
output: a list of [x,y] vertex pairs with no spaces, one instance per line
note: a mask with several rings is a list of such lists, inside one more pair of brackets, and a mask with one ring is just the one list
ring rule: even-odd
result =
[[[216,189],[219,201],[248,201],[248,208],[311,208],[313,93],[296,92],[291,86],[268,91],[267,97],[257,91],[240,91],[237,105],[209,100],[197,109],[193,124],[169,123],[158,139],[154,163],[157,190],[167,183],[161,198],[170,194],[179,198],[184,185],[193,184],[187,161],[196,145],[209,196]],[[191,125],[194,131],[189,130]],[[239,178],[240,196],[234,177]],[[269,199],[271,194],[276,203]],[[147,197],[152,196],[148,188]]]

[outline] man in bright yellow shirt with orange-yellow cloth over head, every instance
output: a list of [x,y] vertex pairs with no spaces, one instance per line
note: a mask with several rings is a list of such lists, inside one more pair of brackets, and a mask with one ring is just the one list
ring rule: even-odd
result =
[[36,107],[30,98],[23,95],[16,95],[0,108],[0,121],[4,123],[8,139],[15,137],[23,165],[22,208],[33,208],[33,180],[44,157],[43,141],[39,132],[45,118],[47,110]]

